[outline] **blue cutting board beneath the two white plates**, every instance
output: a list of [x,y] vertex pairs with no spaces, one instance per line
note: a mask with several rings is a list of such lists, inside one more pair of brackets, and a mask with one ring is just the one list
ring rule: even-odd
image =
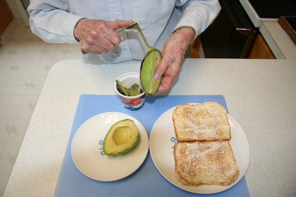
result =
[[92,116],[111,111],[126,113],[139,120],[149,136],[155,121],[166,110],[183,103],[203,103],[207,100],[219,102],[228,113],[226,101],[222,95],[147,96],[144,107],[137,112],[128,112],[123,109],[117,95],[81,95],[54,197],[250,197],[245,176],[230,189],[216,194],[202,195],[184,191],[171,184],[159,173],[149,152],[144,163],[134,173],[111,182],[88,178],[76,168],[72,160],[72,138],[79,126]]

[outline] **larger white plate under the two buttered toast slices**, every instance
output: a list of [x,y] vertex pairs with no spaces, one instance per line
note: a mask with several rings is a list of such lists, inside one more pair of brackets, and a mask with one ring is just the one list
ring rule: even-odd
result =
[[240,170],[237,180],[229,186],[185,186],[177,180],[175,176],[174,161],[174,144],[177,142],[177,140],[172,120],[172,114],[175,108],[176,107],[173,107],[164,112],[154,123],[154,126],[150,132],[150,155],[158,171],[175,186],[188,192],[197,194],[214,194],[234,186],[244,176],[248,168],[250,161],[250,148],[244,131],[239,126],[239,124],[228,114],[228,122],[230,124],[231,131],[231,140],[229,142],[236,159],[236,164]]

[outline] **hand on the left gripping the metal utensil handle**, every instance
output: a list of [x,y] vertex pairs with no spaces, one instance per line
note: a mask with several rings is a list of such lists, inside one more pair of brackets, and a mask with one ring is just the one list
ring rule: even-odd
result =
[[121,38],[114,30],[130,23],[132,21],[103,21],[83,18],[76,24],[74,36],[79,39],[83,51],[99,55],[115,49]]

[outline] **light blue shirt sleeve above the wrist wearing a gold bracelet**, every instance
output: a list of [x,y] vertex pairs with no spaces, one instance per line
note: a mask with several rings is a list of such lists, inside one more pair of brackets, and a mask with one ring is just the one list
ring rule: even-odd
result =
[[212,24],[221,10],[219,0],[177,0],[177,2],[176,6],[182,9],[182,17],[175,30],[189,26],[195,30],[194,39]]

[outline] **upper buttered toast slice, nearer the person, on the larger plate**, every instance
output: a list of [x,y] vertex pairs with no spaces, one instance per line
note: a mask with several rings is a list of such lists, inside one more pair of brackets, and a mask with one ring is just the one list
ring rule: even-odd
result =
[[226,109],[215,101],[177,106],[173,123],[179,142],[231,138]]

